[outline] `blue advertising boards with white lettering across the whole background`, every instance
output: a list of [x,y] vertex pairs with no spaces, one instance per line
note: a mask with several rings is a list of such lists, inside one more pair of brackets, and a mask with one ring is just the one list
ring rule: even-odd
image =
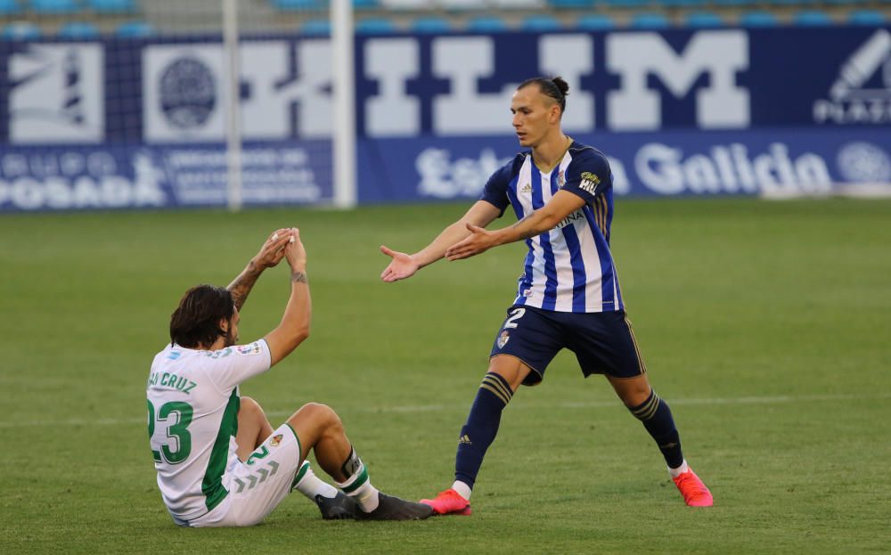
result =
[[[240,53],[245,204],[330,204],[328,40]],[[0,42],[0,212],[225,206],[224,63],[218,37]],[[359,201],[477,196],[537,74],[618,194],[891,183],[887,28],[402,34],[356,37]]]

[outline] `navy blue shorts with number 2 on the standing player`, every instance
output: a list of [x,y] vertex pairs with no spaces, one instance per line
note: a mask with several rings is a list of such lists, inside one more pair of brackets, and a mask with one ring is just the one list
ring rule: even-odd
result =
[[634,378],[646,373],[624,310],[576,314],[511,306],[489,357],[516,356],[532,369],[523,385],[535,386],[562,348],[576,354],[585,377]]

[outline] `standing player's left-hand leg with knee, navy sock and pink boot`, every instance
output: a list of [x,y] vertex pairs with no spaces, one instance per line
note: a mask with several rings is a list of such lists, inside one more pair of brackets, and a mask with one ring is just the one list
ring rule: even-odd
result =
[[516,356],[498,355],[489,359],[489,369],[458,438],[454,484],[434,499],[421,499],[437,515],[470,515],[470,493],[486,450],[495,441],[502,411],[530,371]]

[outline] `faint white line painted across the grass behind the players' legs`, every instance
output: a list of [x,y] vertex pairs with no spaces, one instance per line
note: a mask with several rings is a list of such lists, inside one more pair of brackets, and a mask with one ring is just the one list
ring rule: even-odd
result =
[[[877,401],[891,399],[891,394],[879,395],[805,395],[805,396],[764,396],[764,397],[715,397],[710,399],[668,399],[668,404],[784,404],[784,403],[810,403],[822,401]],[[513,410],[550,410],[550,409],[602,409],[621,406],[618,399],[611,401],[593,401],[590,403],[557,403],[557,404],[515,404]],[[413,412],[437,412],[453,411],[454,406],[444,404],[421,405],[396,405],[377,407],[358,407],[344,412],[371,412],[371,413],[413,413]],[[283,417],[290,416],[294,411],[268,411],[266,416]],[[120,425],[145,424],[145,419],[102,418],[98,420],[70,419],[70,420],[0,420],[0,428],[19,427],[43,427],[43,426],[120,426]]]

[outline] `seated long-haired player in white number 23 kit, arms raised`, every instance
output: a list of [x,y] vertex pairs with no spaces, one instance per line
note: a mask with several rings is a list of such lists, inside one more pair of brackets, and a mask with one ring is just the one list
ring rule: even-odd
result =
[[[241,306],[260,273],[282,258],[290,264],[282,323],[236,346]],[[427,505],[372,486],[329,407],[305,404],[273,429],[260,405],[239,395],[239,384],[307,339],[311,316],[307,252],[296,229],[273,233],[227,289],[199,285],[180,300],[170,318],[171,344],[151,363],[146,393],[158,486],[176,524],[252,526],[292,489],[314,500],[323,518],[429,517]],[[315,477],[310,449],[342,494]]]

